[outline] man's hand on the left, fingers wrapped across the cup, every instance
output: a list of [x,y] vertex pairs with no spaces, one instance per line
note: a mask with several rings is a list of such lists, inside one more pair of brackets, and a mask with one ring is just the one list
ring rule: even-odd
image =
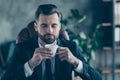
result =
[[53,57],[53,52],[49,48],[36,48],[33,57],[28,61],[30,68],[33,70],[37,65],[41,63],[43,59]]

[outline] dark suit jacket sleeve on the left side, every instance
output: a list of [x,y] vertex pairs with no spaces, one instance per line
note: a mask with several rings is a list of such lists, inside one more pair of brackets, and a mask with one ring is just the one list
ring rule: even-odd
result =
[[9,65],[1,80],[26,80],[24,73],[25,55],[18,46],[16,46],[12,57],[12,63]]

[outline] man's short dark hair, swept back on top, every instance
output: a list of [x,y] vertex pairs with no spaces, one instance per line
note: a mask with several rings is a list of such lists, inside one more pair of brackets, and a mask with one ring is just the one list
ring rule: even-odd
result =
[[35,19],[38,19],[40,14],[51,15],[53,13],[57,13],[58,17],[61,18],[61,13],[58,11],[58,8],[56,5],[53,5],[53,4],[40,5],[36,10]]

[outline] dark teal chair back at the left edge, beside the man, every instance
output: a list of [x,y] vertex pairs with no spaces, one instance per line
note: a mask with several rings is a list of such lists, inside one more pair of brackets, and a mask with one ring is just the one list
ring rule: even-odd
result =
[[15,44],[15,40],[0,44],[0,67],[6,69],[7,66],[11,63]]

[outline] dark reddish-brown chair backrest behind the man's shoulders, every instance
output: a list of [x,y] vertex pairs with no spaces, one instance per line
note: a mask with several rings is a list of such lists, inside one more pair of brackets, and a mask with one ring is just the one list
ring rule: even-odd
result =
[[[37,32],[34,29],[34,21],[30,22],[27,27],[23,28],[17,36],[16,43],[20,43],[37,36]],[[67,32],[61,28],[59,38],[69,40]]]

